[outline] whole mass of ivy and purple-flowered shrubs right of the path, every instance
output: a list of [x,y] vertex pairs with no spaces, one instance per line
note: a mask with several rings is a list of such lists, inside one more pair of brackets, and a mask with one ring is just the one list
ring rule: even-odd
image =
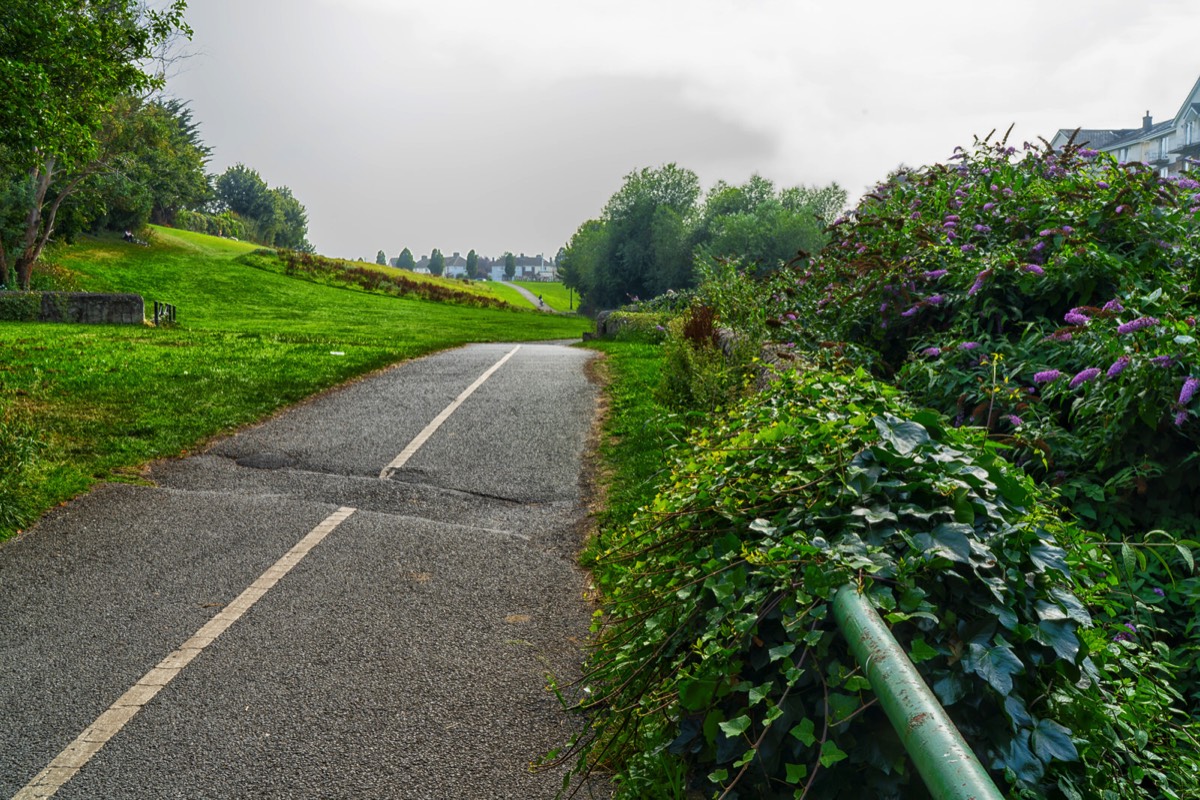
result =
[[[625,796],[925,796],[830,633],[851,581],[1009,796],[1189,796],[1198,219],[1194,176],[984,142],[788,269],[707,261],[666,393],[748,399],[604,534],[587,758]],[[718,327],[812,372],[730,391]]]

